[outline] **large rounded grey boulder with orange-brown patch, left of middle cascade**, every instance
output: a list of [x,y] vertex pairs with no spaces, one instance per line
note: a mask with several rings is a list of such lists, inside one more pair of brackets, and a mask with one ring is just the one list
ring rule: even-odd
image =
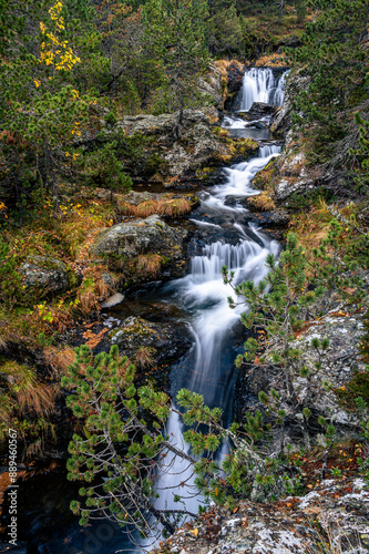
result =
[[185,273],[185,230],[166,225],[157,215],[103,230],[91,247],[98,258],[120,273],[126,284],[154,278],[182,277]]

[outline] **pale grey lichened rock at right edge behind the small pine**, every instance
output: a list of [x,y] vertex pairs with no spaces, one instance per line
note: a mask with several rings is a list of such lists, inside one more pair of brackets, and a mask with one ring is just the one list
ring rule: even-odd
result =
[[[301,407],[307,406],[315,418],[322,416],[344,432],[347,428],[357,427],[357,418],[339,407],[332,389],[345,387],[356,371],[365,370],[366,365],[360,359],[358,348],[363,332],[361,318],[360,314],[331,311],[326,317],[311,321],[309,328],[290,345],[293,349],[301,352],[299,367],[306,366],[310,370],[309,378],[303,378],[299,373],[291,375],[294,393],[298,402],[285,404],[290,422],[296,422]],[[314,338],[318,338],[319,341],[328,338],[328,349],[322,353],[315,350],[311,347]],[[320,369],[316,368],[318,361],[321,362]],[[281,371],[271,365],[255,365],[247,373],[239,376],[238,386],[235,400],[238,418],[243,417],[244,409],[247,411],[248,408],[253,409],[256,406],[260,408],[257,400],[260,391],[274,388],[283,399],[286,399]],[[248,407],[245,408],[245,404]]]

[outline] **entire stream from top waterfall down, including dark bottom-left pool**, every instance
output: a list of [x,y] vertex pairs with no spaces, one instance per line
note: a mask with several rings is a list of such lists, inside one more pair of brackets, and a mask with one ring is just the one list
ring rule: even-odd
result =
[[[253,68],[245,73],[242,89],[242,109],[247,111],[253,102],[267,102],[276,106],[283,103],[285,74],[275,79],[270,69]],[[263,121],[266,121],[265,119]],[[223,183],[199,193],[201,205],[191,214],[189,222],[195,228],[193,240],[196,254],[191,259],[189,273],[181,279],[135,291],[137,301],[148,294],[148,300],[176,306],[183,314],[193,337],[188,353],[178,361],[171,372],[171,393],[185,387],[204,396],[209,407],[223,410],[223,423],[228,425],[233,416],[233,394],[236,380],[234,359],[242,345],[239,316],[245,306],[228,307],[227,297],[232,296],[225,286],[222,266],[235,271],[234,281],[253,279],[258,283],[266,276],[265,260],[269,253],[279,252],[276,240],[263,229],[249,223],[249,212],[245,198],[258,194],[253,188],[256,173],[278,156],[281,144],[271,140],[268,129],[246,126],[237,113],[228,114],[224,125],[230,136],[252,136],[259,142],[257,156],[223,170]],[[116,307],[114,318],[124,319],[126,312]],[[145,317],[145,316],[144,316]],[[183,441],[183,427],[178,417],[172,414],[167,422],[167,434],[176,438],[180,447],[188,449]],[[225,452],[221,449],[218,459]],[[181,495],[187,496],[185,504],[191,512],[197,512],[201,499],[194,495],[187,463],[167,459],[168,472],[163,472],[156,482],[160,507],[181,507],[174,504],[174,494],[180,491],[178,483],[189,481]],[[25,485],[25,483],[24,483]],[[22,486],[22,485],[21,485]],[[70,500],[76,497],[76,488],[65,481],[60,472],[42,475],[33,484],[24,488],[19,538],[25,541],[27,554],[113,554],[120,552],[142,552],[145,546],[134,546],[110,522],[91,522],[86,529],[79,527],[69,512]],[[184,494],[185,492],[185,494]],[[30,540],[32,537],[32,540]]]

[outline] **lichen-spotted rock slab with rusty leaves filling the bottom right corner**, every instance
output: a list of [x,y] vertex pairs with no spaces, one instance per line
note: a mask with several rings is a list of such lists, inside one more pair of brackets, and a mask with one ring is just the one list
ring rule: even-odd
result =
[[[215,507],[165,543],[163,554],[369,553],[369,492],[361,479],[326,480],[305,496],[278,503],[240,502],[237,513]],[[325,546],[324,546],[325,547]]]

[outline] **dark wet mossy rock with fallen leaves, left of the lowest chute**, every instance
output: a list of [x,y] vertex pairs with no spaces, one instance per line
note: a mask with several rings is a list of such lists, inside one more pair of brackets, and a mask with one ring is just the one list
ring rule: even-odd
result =
[[[123,356],[132,360],[136,359],[139,366],[140,352],[143,348],[151,358],[150,363],[161,366],[178,361],[192,345],[189,331],[184,325],[153,324],[134,316],[129,317],[114,329],[110,334],[110,340],[112,345],[119,346]],[[142,358],[143,366],[144,362],[145,359]]]

